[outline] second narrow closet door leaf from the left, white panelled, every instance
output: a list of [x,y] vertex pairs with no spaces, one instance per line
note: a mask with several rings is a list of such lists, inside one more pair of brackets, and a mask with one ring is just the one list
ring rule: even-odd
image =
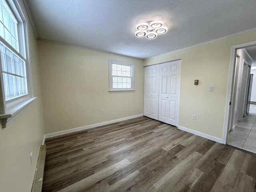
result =
[[150,118],[158,120],[159,65],[151,66]]

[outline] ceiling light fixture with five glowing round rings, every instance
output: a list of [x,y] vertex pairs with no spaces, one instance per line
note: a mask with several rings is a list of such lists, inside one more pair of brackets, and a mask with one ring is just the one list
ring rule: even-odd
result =
[[135,36],[136,37],[144,37],[147,39],[154,39],[157,35],[162,35],[167,32],[167,27],[163,26],[162,21],[148,21],[146,23],[140,23],[136,26]]

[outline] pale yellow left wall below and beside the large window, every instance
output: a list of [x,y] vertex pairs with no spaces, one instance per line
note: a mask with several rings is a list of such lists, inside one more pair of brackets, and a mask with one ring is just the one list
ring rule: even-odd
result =
[[31,191],[39,149],[44,137],[37,40],[31,26],[29,35],[34,96],[37,98],[9,126],[4,129],[0,127],[1,192]]

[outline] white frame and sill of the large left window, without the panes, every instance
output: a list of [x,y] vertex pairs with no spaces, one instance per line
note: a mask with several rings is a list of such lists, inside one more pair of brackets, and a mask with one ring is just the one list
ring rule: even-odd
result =
[[26,62],[26,78],[27,78],[27,89],[28,94],[18,96],[16,98],[5,100],[4,93],[4,81],[2,64],[0,57],[0,120],[2,128],[5,128],[10,124],[22,110],[28,107],[36,99],[34,97],[33,85],[32,85],[32,70],[30,65],[30,50],[29,50],[29,36],[28,36],[28,14],[23,1],[20,0],[6,0],[10,10],[14,14],[18,21],[18,40],[19,40],[19,51],[14,49],[4,38],[0,36],[2,44],[12,50],[22,60]]

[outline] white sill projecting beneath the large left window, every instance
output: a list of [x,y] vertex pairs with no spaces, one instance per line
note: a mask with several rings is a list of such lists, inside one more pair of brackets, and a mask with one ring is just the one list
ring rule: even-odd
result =
[[6,104],[5,114],[2,114],[2,117],[0,117],[2,128],[8,126],[18,116],[18,114],[32,104],[35,99],[36,97],[25,97]]

